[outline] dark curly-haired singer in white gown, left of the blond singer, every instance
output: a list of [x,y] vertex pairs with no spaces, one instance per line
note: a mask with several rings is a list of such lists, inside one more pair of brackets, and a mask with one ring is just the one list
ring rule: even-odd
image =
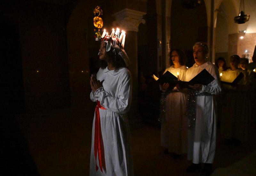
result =
[[[170,52],[170,65],[166,68],[174,76],[184,81],[187,57],[185,53],[178,49]],[[169,84],[160,84],[160,90],[165,92],[165,116],[161,122],[161,146],[167,148],[164,153],[172,153],[173,158],[178,158],[181,154],[187,153],[187,127],[188,121],[184,116],[185,95],[179,92],[176,87],[168,90]],[[163,107],[164,108],[164,107]]]

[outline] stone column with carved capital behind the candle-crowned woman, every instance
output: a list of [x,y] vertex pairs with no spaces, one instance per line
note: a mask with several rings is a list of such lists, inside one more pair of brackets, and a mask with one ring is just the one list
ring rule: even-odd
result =
[[[124,50],[130,59],[128,67],[132,74],[132,104],[129,111],[129,118],[132,118],[133,123],[139,119],[138,115],[138,47],[137,47],[137,32],[140,23],[145,24],[142,19],[145,12],[140,12],[132,9],[124,9],[116,12],[112,16],[116,19],[113,25],[124,30],[126,33]],[[133,116],[133,117],[132,117]]]

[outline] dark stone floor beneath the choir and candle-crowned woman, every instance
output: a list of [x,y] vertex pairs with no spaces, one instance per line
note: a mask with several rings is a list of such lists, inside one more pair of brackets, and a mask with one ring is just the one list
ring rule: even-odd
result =
[[[89,175],[93,107],[31,109],[23,115],[6,115],[1,120],[4,164],[0,175]],[[239,146],[226,146],[218,138],[213,174],[229,175],[230,167],[238,168],[237,162],[246,163],[243,159],[248,157],[253,161],[246,163],[248,168],[255,168],[255,126],[250,141]],[[135,176],[200,175],[185,172],[190,165],[186,155],[172,159],[163,154],[157,121],[131,122],[131,134]]]

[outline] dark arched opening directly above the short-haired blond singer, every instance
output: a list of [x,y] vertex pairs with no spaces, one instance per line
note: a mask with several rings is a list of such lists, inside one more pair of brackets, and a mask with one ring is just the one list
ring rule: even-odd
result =
[[207,13],[204,1],[194,9],[182,7],[181,1],[172,1],[171,5],[171,48],[180,48],[188,55],[188,66],[194,59],[192,47],[198,42],[208,42]]

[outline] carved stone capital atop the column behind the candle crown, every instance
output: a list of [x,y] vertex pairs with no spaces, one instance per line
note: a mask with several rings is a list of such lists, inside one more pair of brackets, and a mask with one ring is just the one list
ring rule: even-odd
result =
[[123,9],[112,15],[112,17],[116,19],[116,21],[113,21],[113,25],[119,26],[119,28],[124,28],[125,31],[138,32],[138,27],[140,23],[146,23],[146,21],[143,19],[143,15],[145,14],[145,12],[140,12],[132,9]]

